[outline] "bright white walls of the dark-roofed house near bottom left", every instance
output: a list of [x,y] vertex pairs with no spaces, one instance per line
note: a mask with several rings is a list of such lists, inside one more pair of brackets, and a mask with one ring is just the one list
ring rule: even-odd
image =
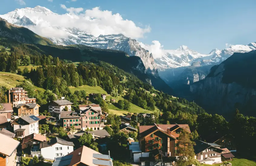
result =
[[[58,150],[56,150],[57,147],[58,147]],[[60,150],[60,147],[62,148],[62,150]],[[52,146],[41,148],[41,155],[44,158],[49,158],[54,160],[55,157],[65,156],[68,153],[73,152],[73,150],[74,150],[73,146],[61,145],[59,143],[56,143]],[[58,156],[56,156],[56,153],[58,153]],[[60,155],[60,153],[62,153],[62,155]]]

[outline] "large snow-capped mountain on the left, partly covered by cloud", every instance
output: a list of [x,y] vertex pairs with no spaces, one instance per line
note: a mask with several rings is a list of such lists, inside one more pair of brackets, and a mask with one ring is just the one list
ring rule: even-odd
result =
[[[54,34],[51,37],[48,37],[58,45],[84,44],[101,49],[121,50],[126,52],[129,56],[139,56],[145,65],[146,72],[158,76],[158,71],[152,54],[149,53],[148,50],[142,48],[135,39],[125,37],[122,34],[100,35],[95,37],[92,34],[81,31],[75,27],[62,27],[57,23],[53,25],[46,21],[47,17],[54,17],[55,15],[58,14],[53,13],[45,7],[36,6],[35,8],[15,9],[7,14],[0,15],[0,17],[6,19],[9,23],[25,26],[32,31],[36,26],[42,23],[48,28],[58,28],[65,33],[65,37],[57,37]],[[73,17],[69,14],[65,14],[65,16]],[[41,35],[44,36],[43,34]]]

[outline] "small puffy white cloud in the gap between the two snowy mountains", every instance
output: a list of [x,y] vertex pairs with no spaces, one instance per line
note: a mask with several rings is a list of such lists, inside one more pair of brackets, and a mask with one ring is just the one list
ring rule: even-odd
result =
[[147,49],[150,53],[152,53],[154,58],[161,58],[161,56],[166,52],[164,50],[164,46],[157,40],[152,41],[153,44],[147,45],[140,43],[141,47]]

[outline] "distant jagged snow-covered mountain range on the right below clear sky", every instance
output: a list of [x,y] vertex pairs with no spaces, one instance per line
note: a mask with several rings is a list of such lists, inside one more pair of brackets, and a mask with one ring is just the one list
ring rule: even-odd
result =
[[187,46],[180,46],[176,50],[167,50],[161,58],[156,58],[155,62],[157,68],[161,70],[190,66],[193,62],[199,62],[201,65],[220,64],[233,53],[246,53],[255,49],[256,42],[248,45],[233,45],[223,50],[213,49],[209,54],[200,54]]

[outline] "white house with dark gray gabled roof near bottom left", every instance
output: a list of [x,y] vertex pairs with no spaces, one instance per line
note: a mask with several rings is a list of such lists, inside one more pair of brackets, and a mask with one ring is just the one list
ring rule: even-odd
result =
[[55,137],[49,141],[41,142],[39,146],[33,148],[32,155],[38,157],[42,155],[45,159],[54,160],[56,157],[62,157],[73,152],[74,143]]

